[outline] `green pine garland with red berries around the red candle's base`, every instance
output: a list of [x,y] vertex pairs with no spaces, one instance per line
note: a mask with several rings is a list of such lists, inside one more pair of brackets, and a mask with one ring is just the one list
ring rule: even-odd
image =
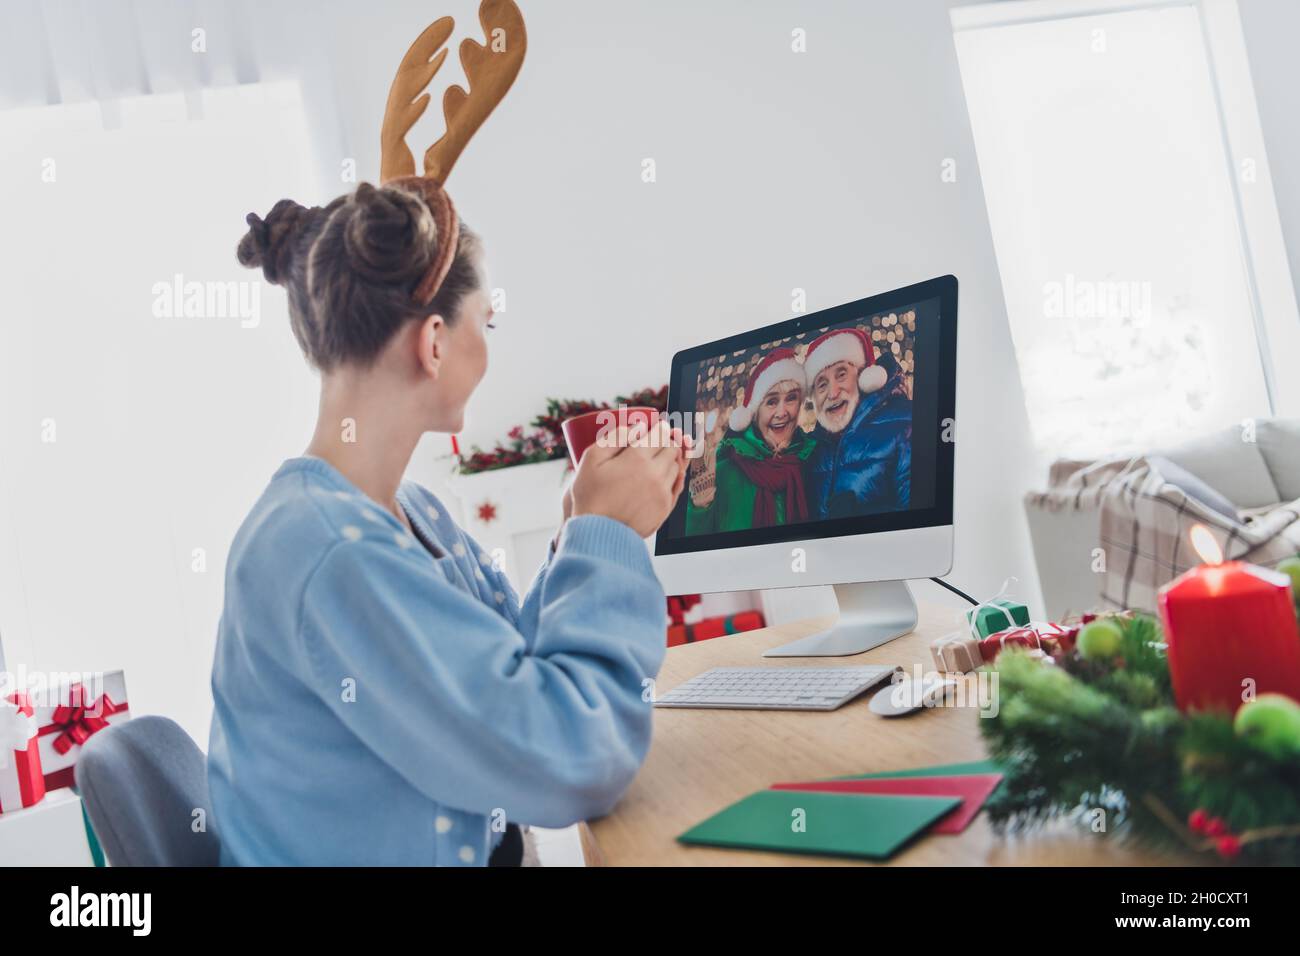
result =
[[[1089,628],[1095,628],[1089,640]],[[1252,864],[1300,864],[1300,704],[1182,713],[1153,618],[1109,615],[1054,658],[1004,650],[980,721],[1006,778],[998,829],[1074,819],[1106,835]]]

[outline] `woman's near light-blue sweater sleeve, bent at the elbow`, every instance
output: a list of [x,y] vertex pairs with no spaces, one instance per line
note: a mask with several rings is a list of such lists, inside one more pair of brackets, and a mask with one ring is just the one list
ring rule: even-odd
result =
[[424,555],[339,542],[304,592],[317,693],[432,800],[550,827],[607,813],[650,745],[663,589],[636,532],[597,516],[566,524],[538,588],[529,650]]

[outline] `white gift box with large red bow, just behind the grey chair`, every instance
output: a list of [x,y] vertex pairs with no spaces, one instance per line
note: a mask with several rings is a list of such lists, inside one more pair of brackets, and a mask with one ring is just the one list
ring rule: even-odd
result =
[[46,706],[35,708],[46,790],[72,787],[82,744],[130,717],[122,671],[96,674],[88,684],[69,683],[52,691]]

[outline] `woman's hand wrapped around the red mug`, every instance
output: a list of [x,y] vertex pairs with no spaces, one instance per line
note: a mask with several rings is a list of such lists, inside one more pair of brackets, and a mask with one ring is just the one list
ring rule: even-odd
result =
[[592,445],[573,479],[573,515],[604,515],[641,537],[663,524],[686,480],[689,436],[667,424],[651,441],[644,425],[620,428],[612,446]]

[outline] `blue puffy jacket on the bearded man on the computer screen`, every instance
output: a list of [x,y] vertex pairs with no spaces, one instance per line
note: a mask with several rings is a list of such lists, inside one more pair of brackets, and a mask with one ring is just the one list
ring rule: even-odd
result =
[[[889,363],[893,364],[893,363]],[[862,395],[849,425],[835,434],[818,425],[807,462],[809,512],[852,518],[907,507],[911,485],[911,399],[893,373]]]

